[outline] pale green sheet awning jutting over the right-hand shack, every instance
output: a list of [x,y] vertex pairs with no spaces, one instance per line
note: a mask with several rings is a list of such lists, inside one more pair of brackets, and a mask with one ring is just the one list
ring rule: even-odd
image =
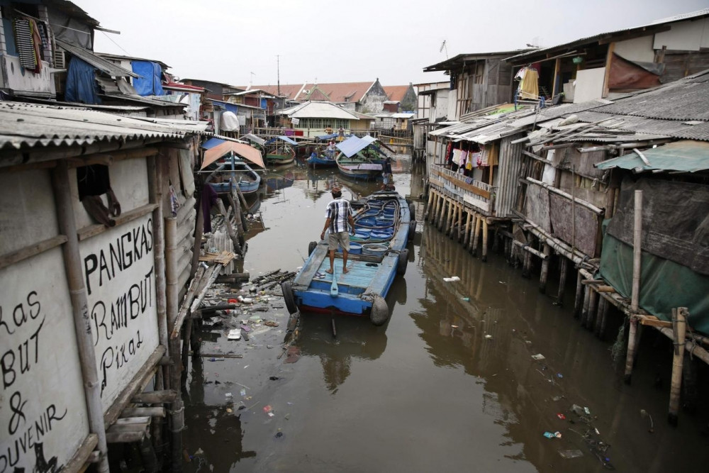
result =
[[642,155],[650,163],[644,164],[637,152],[625,156],[614,157],[612,160],[599,162],[598,169],[631,169],[634,172],[662,171],[698,172],[709,169],[709,143],[697,141],[676,141],[642,151]]

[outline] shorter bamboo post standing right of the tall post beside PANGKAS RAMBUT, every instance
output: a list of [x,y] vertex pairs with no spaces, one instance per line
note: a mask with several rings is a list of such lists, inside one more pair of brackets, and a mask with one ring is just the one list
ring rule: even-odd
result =
[[[165,274],[167,286],[167,328],[172,330],[177,321],[179,311],[179,288],[177,287],[177,220],[175,218],[165,218]],[[180,356],[179,338],[169,340],[169,354],[172,360],[170,365],[170,386],[176,392],[175,401],[170,411],[170,421],[172,430],[172,472],[182,472],[182,430],[184,429],[184,404],[182,396],[179,394],[179,386],[182,385],[182,359]]]

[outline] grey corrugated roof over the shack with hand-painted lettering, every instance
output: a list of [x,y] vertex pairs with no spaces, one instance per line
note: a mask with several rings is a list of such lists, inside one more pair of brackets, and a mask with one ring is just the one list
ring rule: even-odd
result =
[[207,125],[204,121],[135,118],[81,108],[0,102],[0,150],[183,138],[204,133]]

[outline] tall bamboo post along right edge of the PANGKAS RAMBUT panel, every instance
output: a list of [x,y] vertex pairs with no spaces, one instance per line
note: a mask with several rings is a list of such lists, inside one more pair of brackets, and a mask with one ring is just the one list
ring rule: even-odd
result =
[[[157,333],[160,345],[167,349],[167,310],[165,308],[165,240],[162,223],[162,172],[160,161],[155,156],[147,159],[148,196],[151,204],[157,204],[152,211],[152,235],[155,239],[153,254],[155,257],[155,308],[157,311]],[[199,199],[198,199],[199,201]],[[198,208],[201,206],[198,206]],[[199,221],[199,218],[198,218]],[[201,228],[200,228],[201,230]],[[201,235],[201,231],[200,231]],[[197,243],[197,240],[195,240]],[[198,251],[199,257],[199,251]],[[157,369],[155,389],[169,388],[169,368]],[[162,458],[162,423],[154,422],[151,426],[155,449]]]

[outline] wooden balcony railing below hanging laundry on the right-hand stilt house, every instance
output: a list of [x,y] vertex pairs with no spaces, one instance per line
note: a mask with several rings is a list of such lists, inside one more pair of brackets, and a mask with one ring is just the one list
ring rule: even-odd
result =
[[496,187],[476,180],[467,182],[466,179],[462,174],[440,165],[430,165],[428,168],[428,182],[432,187],[477,211],[492,215],[495,211]]

